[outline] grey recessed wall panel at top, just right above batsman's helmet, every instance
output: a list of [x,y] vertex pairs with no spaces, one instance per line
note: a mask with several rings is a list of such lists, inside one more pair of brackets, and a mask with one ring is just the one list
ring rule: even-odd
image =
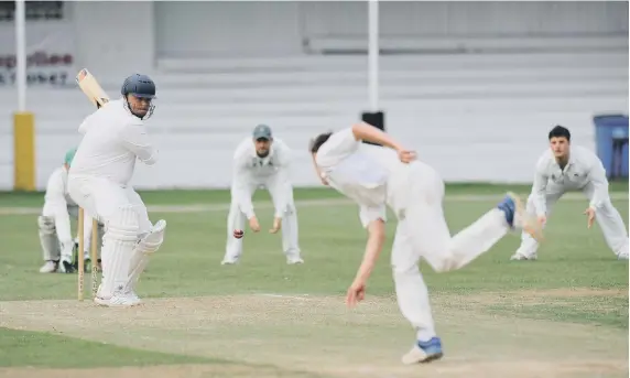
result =
[[158,56],[285,56],[302,51],[297,2],[156,2]]

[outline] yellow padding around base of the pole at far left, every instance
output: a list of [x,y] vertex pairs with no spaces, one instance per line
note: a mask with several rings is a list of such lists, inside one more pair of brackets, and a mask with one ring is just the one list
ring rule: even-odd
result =
[[13,115],[13,190],[35,191],[35,116]]

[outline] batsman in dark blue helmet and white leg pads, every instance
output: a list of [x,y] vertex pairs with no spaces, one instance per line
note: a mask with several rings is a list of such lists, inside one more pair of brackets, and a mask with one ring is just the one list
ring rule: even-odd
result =
[[68,177],[73,199],[106,226],[102,280],[95,302],[108,306],[140,303],[135,283],[162,245],[166,227],[164,220],[151,224],[142,199],[129,185],[137,160],[148,165],[158,161],[143,123],[154,109],[155,84],[135,74],[124,80],[121,94],[121,99],[80,125],[84,138]]

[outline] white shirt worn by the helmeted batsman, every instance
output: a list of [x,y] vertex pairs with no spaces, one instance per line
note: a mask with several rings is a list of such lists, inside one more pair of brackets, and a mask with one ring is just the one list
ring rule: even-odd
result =
[[89,115],[79,132],[85,136],[73,160],[70,176],[104,177],[126,186],[133,175],[135,159],[148,165],[158,161],[146,127],[122,99]]

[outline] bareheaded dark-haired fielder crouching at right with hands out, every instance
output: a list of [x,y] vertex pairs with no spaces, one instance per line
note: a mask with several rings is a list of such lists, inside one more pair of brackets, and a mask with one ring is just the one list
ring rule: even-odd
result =
[[[587,227],[597,220],[608,247],[618,259],[628,260],[628,231],[619,212],[610,203],[606,170],[599,158],[588,149],[571,145],[571,132],[554,127],[548,133],[550,149],[539,159],[535,168],[532,193],[526,210],[537,216],[544,226],[553,205],[569,191],[580,191],[589,204],[584,214]],[[539,244],[528,234],[512,260],[535,260]]]

